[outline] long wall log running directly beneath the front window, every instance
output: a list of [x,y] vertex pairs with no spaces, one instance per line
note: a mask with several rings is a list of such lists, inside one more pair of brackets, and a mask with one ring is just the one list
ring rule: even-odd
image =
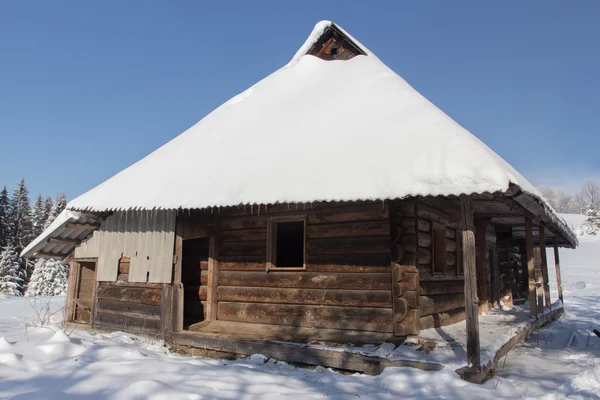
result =
[[[203,276],[207,276],[202,271]],[[208,282],[208,279],[207,279]],[[219,286],[305,289],[389,290],[390,273],[328,273],[298,271],[221,271]]]

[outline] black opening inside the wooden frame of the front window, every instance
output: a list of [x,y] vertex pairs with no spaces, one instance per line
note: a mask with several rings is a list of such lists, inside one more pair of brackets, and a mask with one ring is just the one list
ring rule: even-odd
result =
[[304,221],[272,222],[271,267],[304,268]]

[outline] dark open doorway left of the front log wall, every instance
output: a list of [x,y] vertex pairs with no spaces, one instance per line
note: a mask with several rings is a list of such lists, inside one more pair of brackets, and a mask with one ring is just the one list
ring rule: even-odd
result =
[[206,282],[202,282],[202,270],[208,269],[210,238],[183,241],[181,260],[181,283],[183,284],[183,326],[204,321],[206,312]]

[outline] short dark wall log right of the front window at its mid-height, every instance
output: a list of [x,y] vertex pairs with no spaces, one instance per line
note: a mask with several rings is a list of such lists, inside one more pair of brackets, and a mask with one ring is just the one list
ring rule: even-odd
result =
[[360,238],[308,239],[308,254],[377,254],[390,251],[389,233],[386,236]]

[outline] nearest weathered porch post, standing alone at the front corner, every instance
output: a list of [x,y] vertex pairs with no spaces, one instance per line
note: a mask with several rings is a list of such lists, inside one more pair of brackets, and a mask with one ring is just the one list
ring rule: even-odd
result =
[[479,345],[479,314],[477,299],[477,269],[475,256],[475,226],[471,198],[460,196],[462,220],[463,271],[465,276],[465,311],[467,321],[467,362],[475,368],[481,365]]

